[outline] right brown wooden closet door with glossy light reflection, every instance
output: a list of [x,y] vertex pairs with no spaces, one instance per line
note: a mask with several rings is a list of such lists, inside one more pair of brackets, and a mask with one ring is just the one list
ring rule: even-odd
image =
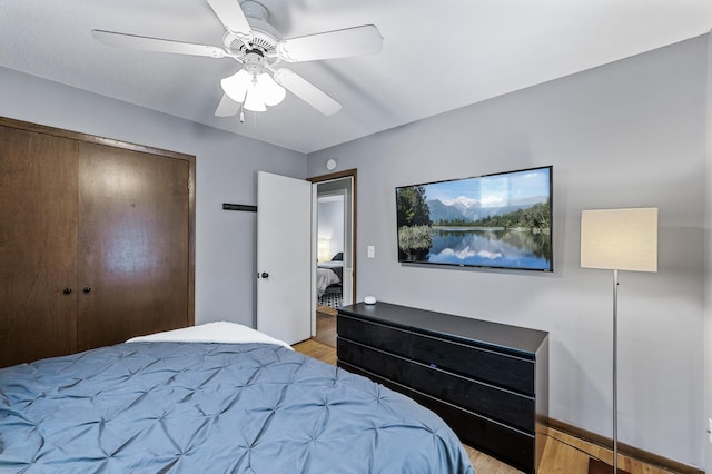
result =
[[189,165],[79,148],[78,349],[188,325]]

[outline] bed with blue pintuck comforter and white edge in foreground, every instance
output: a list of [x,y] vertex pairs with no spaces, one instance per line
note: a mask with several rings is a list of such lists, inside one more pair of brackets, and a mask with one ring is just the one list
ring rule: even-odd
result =
[[0,369],[0,472],[474,470],[412,399],[211,323]]

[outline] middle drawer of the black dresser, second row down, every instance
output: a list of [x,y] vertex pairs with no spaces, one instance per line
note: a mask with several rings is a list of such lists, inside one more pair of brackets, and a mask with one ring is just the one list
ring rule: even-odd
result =
[[339,338],[339,361],[465,409],[534,433],[534,398]]

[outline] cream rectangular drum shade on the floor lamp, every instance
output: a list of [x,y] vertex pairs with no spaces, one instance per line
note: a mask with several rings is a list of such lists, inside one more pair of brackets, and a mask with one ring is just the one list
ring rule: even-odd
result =
[[657,208],[582,211],[581,266],[657,271]]

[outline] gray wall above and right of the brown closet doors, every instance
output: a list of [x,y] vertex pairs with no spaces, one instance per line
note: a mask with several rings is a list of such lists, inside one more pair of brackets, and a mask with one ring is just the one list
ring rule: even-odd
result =
[[0,68],[0,116],[196,156],[196,323],[254,327],[257,170],[306,177],[306,156]]

